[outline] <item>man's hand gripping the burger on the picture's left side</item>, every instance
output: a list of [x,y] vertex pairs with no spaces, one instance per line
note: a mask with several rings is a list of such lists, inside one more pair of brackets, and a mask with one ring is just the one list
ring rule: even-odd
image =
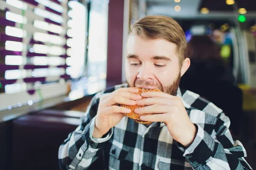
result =
[[139,92],[137,88],[119,88],[111,94],[102,96],[95,119],[93,138],[101,138],[121,121],[125,113],[131,113],[130,109],[118,106],[117,103],[136,105],[135,100],[142,98],[135,94],[137,92]]

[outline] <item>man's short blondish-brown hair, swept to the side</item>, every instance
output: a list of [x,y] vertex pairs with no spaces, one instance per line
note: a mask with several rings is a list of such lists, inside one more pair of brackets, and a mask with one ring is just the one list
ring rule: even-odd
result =
[[180,66],[182,65],[186,53],[186,36],[180,25],[171,17],[161,15],[143,17],[131,25],[129,35],[131,34],[145,39],[165,39],[174,43]]

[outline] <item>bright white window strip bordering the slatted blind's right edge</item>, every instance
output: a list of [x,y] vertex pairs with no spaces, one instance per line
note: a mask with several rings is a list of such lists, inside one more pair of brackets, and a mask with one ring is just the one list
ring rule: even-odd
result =
[[74,79],[85,76],[85,55],[86,55],[86,40],[88,33],[87,29],[87,8],[76,1],[68,3],[71,10],[68,15],[72,18],[68,20],[67,25],[70,29],[67,30],[67,35],[72,39],[67,39],[67,54],[71,57],[67,58],[67,73]]

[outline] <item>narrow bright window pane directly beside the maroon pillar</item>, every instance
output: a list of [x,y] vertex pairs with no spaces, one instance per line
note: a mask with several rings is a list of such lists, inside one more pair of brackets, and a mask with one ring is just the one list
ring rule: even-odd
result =
[[87,76],[88,81],[94,84],[88,87],[90,93],[106,87],[108,3],[109,0],[91,1]]

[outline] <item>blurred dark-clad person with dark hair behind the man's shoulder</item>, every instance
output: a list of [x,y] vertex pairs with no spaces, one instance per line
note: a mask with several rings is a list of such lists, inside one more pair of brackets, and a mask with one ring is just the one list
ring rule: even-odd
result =
[[189,69],[180,88],[193,91],[221,108],[230,118],[230,129],[239,135],[242,119],[242,91],[235,85],[232,68],[221,59],[218,45],[206,35],[192,36],[187,43]]

